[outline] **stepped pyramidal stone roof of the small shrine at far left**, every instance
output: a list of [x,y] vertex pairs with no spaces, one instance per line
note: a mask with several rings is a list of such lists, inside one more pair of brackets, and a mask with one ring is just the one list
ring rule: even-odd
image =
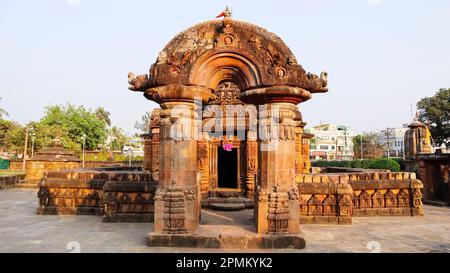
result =
[[29,161],[80,162],[80,159],[64,149],[61,140],[55,138],[50,147],[37,152]]

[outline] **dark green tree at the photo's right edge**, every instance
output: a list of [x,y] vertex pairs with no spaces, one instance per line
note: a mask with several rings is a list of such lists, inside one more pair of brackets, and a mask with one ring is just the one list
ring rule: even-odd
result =
[[450,138],[450,88],[441,88],[433,97],[417,103],[419,120],[428,126],[435,144]]

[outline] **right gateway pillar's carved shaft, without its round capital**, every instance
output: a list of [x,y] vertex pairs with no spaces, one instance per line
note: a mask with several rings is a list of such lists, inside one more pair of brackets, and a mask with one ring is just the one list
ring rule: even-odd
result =
[[258,233],[298,233],[295,186],[295,105],[272,103],[259,112]]

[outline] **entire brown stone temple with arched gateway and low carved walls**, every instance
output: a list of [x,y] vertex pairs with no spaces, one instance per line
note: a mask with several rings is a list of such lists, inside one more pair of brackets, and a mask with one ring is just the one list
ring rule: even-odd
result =
[[298,105],[328,91],[327,73],[306,72],[278,36],[229,12],[175,36],[149,74],[128,81],[160,106],[143,169],[49,171],[38,214],[153,221],[150,246],[224,247],[201,233],[202,207],[253,208],[249,248],[302,248],[302,224],[423,215],[414,173],[310,173]]

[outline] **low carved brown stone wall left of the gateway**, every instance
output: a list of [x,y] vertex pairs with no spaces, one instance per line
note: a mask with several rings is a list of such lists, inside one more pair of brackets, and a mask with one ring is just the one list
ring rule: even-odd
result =
[[151,174],[138,168],[51,171],[39,182],[36,213],[105,214],[107,222],[152,221],[155,190]]

